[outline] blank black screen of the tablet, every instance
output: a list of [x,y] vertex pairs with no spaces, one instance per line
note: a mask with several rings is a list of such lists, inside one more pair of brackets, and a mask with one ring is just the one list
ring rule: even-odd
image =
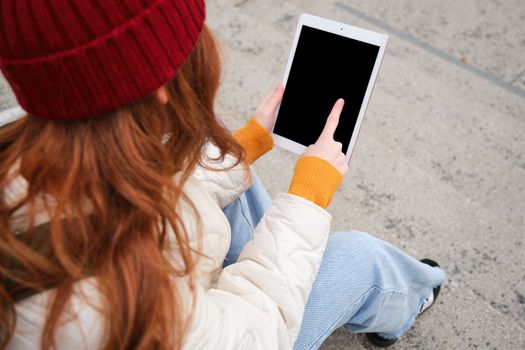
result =
[[342,97],[334,139],[346,153],[378,53],[379,46],[303,26],[273,132],[314,144]]

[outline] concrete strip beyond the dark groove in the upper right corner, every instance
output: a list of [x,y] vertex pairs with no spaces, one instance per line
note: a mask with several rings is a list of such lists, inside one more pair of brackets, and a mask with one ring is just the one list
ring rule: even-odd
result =
[[[302,8],[352,13],[525,97],[525,2],[291,0]],[[335,10],[335,11],[334,11]],[[328,12],[330,11],[330,12]],[[445,57],[446,56],[446,57]]]

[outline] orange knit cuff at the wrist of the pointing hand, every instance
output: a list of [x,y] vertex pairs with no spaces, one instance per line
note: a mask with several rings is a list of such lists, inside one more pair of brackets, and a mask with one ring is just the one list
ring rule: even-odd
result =
[[319,157],[306,156],[295,165],[288,193],[326,208],[342,181],[343,175],[332,164]]

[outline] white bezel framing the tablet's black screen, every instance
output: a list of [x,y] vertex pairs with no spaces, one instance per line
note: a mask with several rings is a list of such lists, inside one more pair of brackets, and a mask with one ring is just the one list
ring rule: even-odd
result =
[[[297,29],[295,31],[292,49],[290,51],[290,56],[288,58],[288,63],[286,65],[286,70],[284,73],[283,85],[285,87],[286,87],[286,82],[288,81],[288,75],[290,74],[290,69],[292,67],[295,50],[297,48],[297,42],[299,41],[299,36],[301,34],[301,30],[303,26],[312,27],[315,29],[329,32],[329,33],[341,35],[347,38],[351,38],[351,39],[355,39],[355,40],[359,40],[365,43],[379,46],[379,52],[377,54],[374,68],[372,69],[372,74],[370,75],[370,80],[368,81],[368,86],[366,88],[366,93],[363,98],[363,103],[361,104],[361,108],[359,109],[359,115],[357,117],[357,121],[356,121],[354,130],[353,130],[353,133],[352,133],[352,137],[350,139],[350,144],[346,152],[346,160],[347,162],[350,162],[352,151],[354,149],[354,146],[357,140],[357,135],[359,134],[359,130],[361,129],[361,124],[365,116],[366,108],[368,106],[368,101],[370,100],[370,95],[372,94],[372,90],[374,88],[377,74],[381,66],[381,61],[383,60],[386,45],[388,42],[388,35],[376,33],[376,32],[373,32],[367,29],[354,27],[348,24],[335,22],[335,21],[332,21],[326,18],[322,18],[322,17],[318,17],[318,16],[306,14],[306,13],[302,14],[301,17],[299,18],[299,23],[297,24]],[[279,110],[277,110],[276,116],[278,114],[279,114]],[[326,116],[328,117],[328,115]],[[319,130],[319,134],[320,133],[321,133],[321,130]],[[307,146],[301,145],[300,143],[292,141],[286,137],[274,134],[273,128],[272,128],[272,137],[274,139],[275,145],[281,148],[284,148],[288,151],[291,151],[293,153],[302,154],[307,148]]]

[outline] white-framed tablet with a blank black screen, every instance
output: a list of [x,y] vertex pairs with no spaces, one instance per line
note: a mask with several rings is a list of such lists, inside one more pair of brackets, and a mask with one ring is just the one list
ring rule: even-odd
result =
[[284,74],[284,96],[272,130],[275,144],[301,154],[314,144],[338,98],[345,106],[334,140],[349,162],[388,36],[301,15]]

